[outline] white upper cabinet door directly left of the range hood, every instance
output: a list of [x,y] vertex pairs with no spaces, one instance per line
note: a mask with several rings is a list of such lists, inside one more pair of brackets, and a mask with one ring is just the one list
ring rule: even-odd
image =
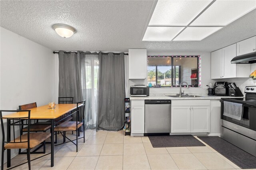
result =
[[236,77],[236,64],[231,64],[231,60],[236,57],[236,44],[229,45],[222,49],[224,57],[223,78]]

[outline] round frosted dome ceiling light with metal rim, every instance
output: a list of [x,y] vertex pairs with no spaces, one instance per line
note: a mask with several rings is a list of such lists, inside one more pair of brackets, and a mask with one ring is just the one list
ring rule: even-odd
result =
[[52,28],[56,31],[56,33],[63,37],[63,38],[69,38],[71,37],[74,33],[76,33],[76,29],[73,28],[72,26],[68,26],[65,24],[54,24]]

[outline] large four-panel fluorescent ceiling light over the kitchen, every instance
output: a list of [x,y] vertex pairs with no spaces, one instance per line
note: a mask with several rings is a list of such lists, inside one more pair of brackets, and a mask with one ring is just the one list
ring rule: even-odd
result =
[[255,0],[158,0],[142,41],[201,41],[254,9]]

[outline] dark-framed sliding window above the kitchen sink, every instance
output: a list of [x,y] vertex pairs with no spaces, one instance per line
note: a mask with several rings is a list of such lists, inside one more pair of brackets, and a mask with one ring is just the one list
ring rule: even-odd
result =
[[[200,85],[199,55],[148,55],[148,85],[180,87],[186,81],[190,87]],[[182,87],[186,84],[182,84]]]

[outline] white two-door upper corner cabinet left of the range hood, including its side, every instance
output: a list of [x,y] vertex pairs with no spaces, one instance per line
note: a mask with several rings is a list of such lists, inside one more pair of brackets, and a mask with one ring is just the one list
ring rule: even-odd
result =
[[250,75],[250,64],[231,64],[236,57],[236,43],[211,53],[211,78],[242,78]]

